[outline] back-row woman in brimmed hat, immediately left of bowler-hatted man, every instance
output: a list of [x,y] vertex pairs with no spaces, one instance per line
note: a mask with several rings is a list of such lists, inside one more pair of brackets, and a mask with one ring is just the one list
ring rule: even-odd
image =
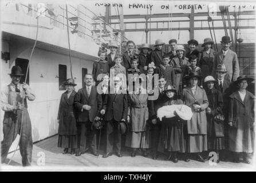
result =
[[202,76],[205,78],[212,71],[214,62],[215,51],[211,49],[214,42],[211,38],[205,38],[203,40],[202,47],[204,47],[198,61],[198,66],[202,69]]

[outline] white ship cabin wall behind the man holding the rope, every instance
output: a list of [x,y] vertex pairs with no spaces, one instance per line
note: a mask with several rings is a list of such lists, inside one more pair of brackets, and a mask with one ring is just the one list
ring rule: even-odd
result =
[[[29,59],[31,49],[21,53],[18,58]],[[64,90],[59,91],[58,87],[58,65],[67,66],[67,78],[70,78],[69,56],[48,50],[35,49],[30,62],[29,85],[36,95],[36,100],[28,101],[28,110],[32,125],[33,141],[42,140],[58,132],[57,114],[61,94]],[[4,62],[5,63],[5,62]],[[3,62],[2,62],[3,64]],[[92,61],[72,57],[73,78],[77,83],[76,91],[82,87],[82,67],[92,73]],[[1,72],[3,83],[9,83],[10,73],[9,62],[4,65]],[[41,77],[41,74],[43,77]],[[3,115],[1,115],[1,121]],[[1,123],[2,125],[2,123]],[[1,138],[2,139],[2,138]]]

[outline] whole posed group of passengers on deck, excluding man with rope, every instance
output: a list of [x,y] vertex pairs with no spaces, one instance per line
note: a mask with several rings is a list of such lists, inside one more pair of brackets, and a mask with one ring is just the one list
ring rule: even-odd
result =
[[[171,39],[171,51],[164,53],[164,42],[157,39],[154,50],[145,43],[135,54],[135,43],[128,41],[123,55],[111,42],[111,53],[101,51],[92,74],[85,75],[85,87],[76,93],[73,79],[64,83],[67,91],[60,101],[58,146],[64,154],[70,148],[76,156],[87,150],[99,156],[95,124],[103,119],[104,158],[113,153],[122,157],[122,148],[128,147],[131,157],[139,152],[148,157],[150,149],[154,160],[164,153],[166,160],[175,163],[181,157],[186,162],[191,157],[204,162],[209,152],[215,152],[217,162],[231,154],[232,161],[242,157],[249,164],[254,151],[254,95],[246,88],[254,79],[239,76],[237,54],[230,50],[230,42],[230,37],[222,37],[222,49],[216,53],[210,38],[204,39],[202,51],[196,49],[198,41],[191,39],[186,53],[183,45]],[[109,92],[111,70],[114,93]],[[152,93],[143,92],[141,80],[133,93],[120,92],[128,90],[128,74],[159,74],[156,100],[149,100]],[[97,92],[97,87],[103,92]],[[177,114],[162,120],[157,117],[159,108],[181,104],[191,108],[190,120]]]

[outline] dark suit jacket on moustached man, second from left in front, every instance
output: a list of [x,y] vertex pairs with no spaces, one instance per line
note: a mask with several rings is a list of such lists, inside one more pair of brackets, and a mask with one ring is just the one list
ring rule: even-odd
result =
[[[83,105],[89,105],[92,108],[90,110],[85,110],[82,109]],[[89,97],[86,86],[78,90],[74,97],[74,106],[78,110],[78,121],[80,122],[86,122],[88,120],[93,122],[94,118],[99,116],[102,105],[103,101],[101,94],[97,93],[97,88],[95,86],[92,86]]]

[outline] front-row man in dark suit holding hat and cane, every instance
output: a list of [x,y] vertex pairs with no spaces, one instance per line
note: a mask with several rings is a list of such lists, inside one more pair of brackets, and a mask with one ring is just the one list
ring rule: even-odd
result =
[[104,98],[103,109],[101,110],[101,114],[105,114],[107,134],[107,146],[103,158],[112,155],[114,145],[116,148],[116,155],[122,157],[119,122],[127,120],[128,99],[127,94],[120,93],[120,83],[120,78],[115,77],[115,93],[107,94]]

